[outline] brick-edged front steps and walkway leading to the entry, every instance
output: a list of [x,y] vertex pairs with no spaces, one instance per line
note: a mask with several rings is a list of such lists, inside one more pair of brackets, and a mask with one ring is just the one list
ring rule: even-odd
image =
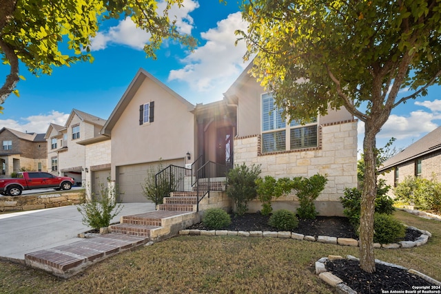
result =
[[[225,183],[211,182],[210,187],[214,187],[212,185],[216,185],[216,188],[225,187]],[[225,192],[210,193],[209,197],[205,196],[199,203],[200,211],[212,207],[231,207],[231,200]],[[67,278],[117,253],[134,249],[149,241],[164,240],[177,235],[182,229],[201,220],[196,211],[197,193],[194,191],[174,192],[157,209],[121,217],[119,224],[109,227],[108,234],[92,235],[72,244],[25,254],[25,264]]]

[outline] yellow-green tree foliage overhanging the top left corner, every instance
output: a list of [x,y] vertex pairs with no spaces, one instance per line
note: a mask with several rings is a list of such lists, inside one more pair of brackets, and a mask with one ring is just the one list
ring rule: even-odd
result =
[[[51,74],[53,67],[77,61],[93,61],[91,38],[104,19],[130,17],[138,28],[150,33],[145,45],[147,56],[156,57],[164,39],[173,39],[193,48],[196,41],[178,32],[173,5],[183,0],[0,0],[0,54],[3,64],[10,65],[10,74],[0,88],[3,103],[19,81],[19,61],[32,74]],[[66,42],[67,45],[62,45]]]

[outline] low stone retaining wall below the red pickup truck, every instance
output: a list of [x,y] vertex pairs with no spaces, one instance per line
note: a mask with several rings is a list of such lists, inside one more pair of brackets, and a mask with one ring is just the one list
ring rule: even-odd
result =
[[23,196],[0,196],[0,212],[27,211],[62,207],[83,202],[83,191],[61,191],[60,193]]

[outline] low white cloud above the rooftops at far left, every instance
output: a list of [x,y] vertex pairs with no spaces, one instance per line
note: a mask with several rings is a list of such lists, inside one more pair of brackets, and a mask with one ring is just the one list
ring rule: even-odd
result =
[[69,114],[63,114],[62,112],[52,110],[52,112],[48,114],[39,114],[37,116],[21,118],[21,121],[13,119],[0,120],[0,125],[23,133],[42,134],[48,130],[50,123],[64,125],[66,120],[68,120],[68,117]]

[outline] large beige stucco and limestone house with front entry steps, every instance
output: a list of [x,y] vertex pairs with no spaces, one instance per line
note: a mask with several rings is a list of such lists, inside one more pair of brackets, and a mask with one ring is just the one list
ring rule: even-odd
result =
[[[207,105],[192,105],[145,70],[136,73],[101,131],[111,137],[111,178],[123,202],[146,201],[141,184],[159,162],[189,167],[195,160],[212,161],[227,168],[245,162],[275,178],[327,174],[317,209],[342,215],[338,198],[357,185],[357,120],[342,108],[309,125],[287,125],[272,111],[271,94],[247,70],[222,101]],[[297,205],[291,195],[274,208]],[[260,210],[260,203],[250,210]]]

